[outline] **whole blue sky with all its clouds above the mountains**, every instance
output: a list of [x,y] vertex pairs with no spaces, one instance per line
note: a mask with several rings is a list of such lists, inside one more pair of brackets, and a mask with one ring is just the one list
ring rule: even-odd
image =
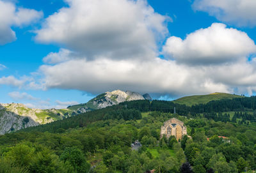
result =
[[255,0],[0,0],[0,103],[256,91]]

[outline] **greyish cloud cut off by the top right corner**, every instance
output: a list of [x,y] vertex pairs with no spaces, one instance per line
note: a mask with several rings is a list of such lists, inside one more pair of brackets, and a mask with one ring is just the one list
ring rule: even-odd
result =
[[256,25],[255,0],[195,0],[193,8],[205,11],[222,22],[237,26]]

